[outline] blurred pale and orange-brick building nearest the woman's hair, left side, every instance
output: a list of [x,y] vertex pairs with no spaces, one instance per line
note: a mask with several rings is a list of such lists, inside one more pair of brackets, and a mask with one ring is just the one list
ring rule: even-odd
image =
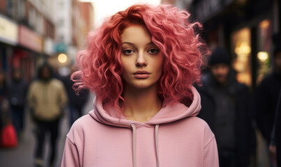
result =
[[56,35],[55,52],[68,56],[66,63],[58,63],[53,58],[61,74],[69,72],[69,66],[75,63],[77,52],[85,48],[86,35],[93,24],[93,6],[78,0],[56,1]]

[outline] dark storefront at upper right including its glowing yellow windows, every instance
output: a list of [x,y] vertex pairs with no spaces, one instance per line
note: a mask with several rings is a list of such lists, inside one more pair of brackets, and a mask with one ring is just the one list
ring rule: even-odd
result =
[[238,81],[254,90],[273,68],[272,35],[280,32],[280,2],[198,0],[189,8],[204,24],[204,38],[211,49],[227,48]]

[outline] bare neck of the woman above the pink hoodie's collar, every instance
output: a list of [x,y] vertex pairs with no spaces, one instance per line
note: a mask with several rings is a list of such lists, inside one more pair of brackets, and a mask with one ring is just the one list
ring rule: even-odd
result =
[[139,89],[126,86],[124,116],[128,120],[147,122],[161,109],[162,102],[157,95],[157,85]]

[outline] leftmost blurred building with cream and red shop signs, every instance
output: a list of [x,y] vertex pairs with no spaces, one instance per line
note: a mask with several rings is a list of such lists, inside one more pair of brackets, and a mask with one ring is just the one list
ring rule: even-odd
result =
[[8,77],[14,68],[20,68],[24,79],[31,81],[36,73],[36,63],[44,55],[52,54],[52,2],[0,1],[0,24],[3,28],[0,35],[1,70]]

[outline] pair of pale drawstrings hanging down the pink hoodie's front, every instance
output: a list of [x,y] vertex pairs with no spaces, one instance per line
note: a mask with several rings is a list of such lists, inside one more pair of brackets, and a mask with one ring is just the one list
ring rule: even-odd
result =
[[[135,124],[132,122],[132,167],[137,167],[137,158],[136,158],[136,137],[137,130]],[[158,157],[158,129],[159,125],[155,125],[155,154],[156,154],[156,167],[159,167],[159,157]]]

